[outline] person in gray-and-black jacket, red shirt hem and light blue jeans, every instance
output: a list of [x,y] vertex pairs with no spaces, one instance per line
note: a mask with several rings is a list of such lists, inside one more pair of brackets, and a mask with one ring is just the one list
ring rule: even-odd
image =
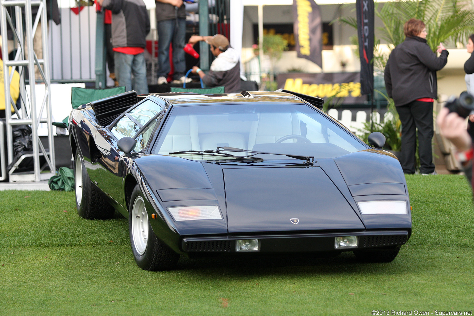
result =
[[150,19],[143,0],[100,0],[112,11],[112,50],[115,76],[126,91],[148,93],[145,47]]

